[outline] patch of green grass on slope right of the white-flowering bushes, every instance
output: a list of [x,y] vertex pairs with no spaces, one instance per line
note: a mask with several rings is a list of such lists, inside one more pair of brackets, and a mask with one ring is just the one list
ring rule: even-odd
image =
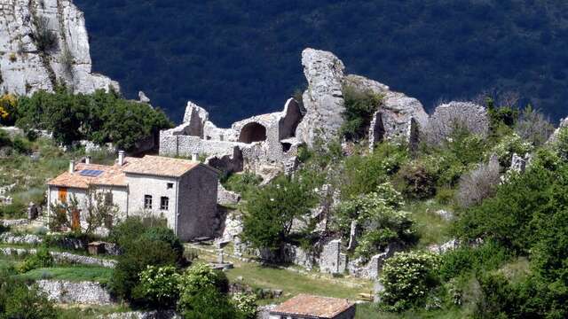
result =
[[434,200],[416,201],[406,204],[403,210],[412,213],[416,222],[416,230],[420,236],[418,248],[426,248],[432,244],[442,244],[450,240],[449,229],[451,222],[442,219],[436,212],[440,209],[452,211],[441,206]]

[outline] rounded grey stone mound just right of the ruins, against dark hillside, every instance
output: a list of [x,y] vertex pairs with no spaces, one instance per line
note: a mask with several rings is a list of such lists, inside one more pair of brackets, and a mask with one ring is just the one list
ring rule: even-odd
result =
[[450,102],[438,105],[426,128],[430,144],[446,141],[455,128],[465,128],[472,134],[487,136],[489,117],[485,107],[470,102]]

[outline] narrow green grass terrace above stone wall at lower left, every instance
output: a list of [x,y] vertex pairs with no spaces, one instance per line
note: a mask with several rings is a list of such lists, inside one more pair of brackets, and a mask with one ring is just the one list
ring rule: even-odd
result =
[[38,268],[28,271],[25,274],[16,276],[23,280],[68,280],[68,281],[95,281],[106,284],[113,273],[111,268],[94,267],[94,266],[69,266],[69,267],[53,267]]

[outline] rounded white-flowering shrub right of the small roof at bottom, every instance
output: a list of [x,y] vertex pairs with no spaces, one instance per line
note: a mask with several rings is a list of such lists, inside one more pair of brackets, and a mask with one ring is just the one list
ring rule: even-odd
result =
[[423,304],[426,293],[438,284],[439,257],[430,253],[395,253],[385,261],[381,300],[390,311]]

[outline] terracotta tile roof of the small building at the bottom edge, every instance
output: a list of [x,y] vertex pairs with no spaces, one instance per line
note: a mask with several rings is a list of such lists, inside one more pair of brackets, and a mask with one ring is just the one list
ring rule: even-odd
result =
[[349,300],[299,294],[272,309],[271,314],[334,318],[353,305]]

